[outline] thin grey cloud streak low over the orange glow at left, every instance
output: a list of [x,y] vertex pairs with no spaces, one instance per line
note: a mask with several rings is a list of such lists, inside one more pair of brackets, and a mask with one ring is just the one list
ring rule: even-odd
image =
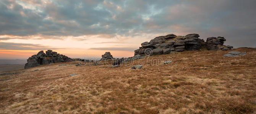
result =
[[61,49],[61,48],[42,46],[40,44],[0,42],[0,49],[4,49],[4,50],[47,50],[47,49]]

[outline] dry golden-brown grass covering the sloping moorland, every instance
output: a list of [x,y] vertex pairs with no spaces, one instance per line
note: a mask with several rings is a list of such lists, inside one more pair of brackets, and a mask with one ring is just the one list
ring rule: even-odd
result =
[[11,79],[0,81],[0,113],[256,113],[256,49],[235,51],[247,55],[178,52],[152,56],[172,57],[171,66],[141,70],[77,62],[19,70],[0,77]]

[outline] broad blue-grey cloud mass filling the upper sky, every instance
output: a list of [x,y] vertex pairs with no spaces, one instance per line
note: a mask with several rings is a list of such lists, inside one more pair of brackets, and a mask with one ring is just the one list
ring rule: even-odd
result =
[[204,39],[224,36],[226,44],[255,47],[255,4],[256,0],[1,0],[0,35],[62,39],[199,33]]

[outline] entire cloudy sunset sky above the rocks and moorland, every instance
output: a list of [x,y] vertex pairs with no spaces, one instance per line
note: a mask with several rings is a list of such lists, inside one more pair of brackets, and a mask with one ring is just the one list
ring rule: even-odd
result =
[[0,59],[51,49],[71,58],[131,57],[173,33],[256,47],[256,0],[0,0]]

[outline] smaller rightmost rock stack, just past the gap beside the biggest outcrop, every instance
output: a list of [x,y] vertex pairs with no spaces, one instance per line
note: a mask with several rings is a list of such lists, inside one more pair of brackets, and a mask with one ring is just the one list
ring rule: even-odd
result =
[[224,41],[226,41],[226,39],[224,37],[210,37],[207,38],[206,40],[206,48],[207,50],[228,50],[228,49],[232,49],[233,46],[225,46]]

